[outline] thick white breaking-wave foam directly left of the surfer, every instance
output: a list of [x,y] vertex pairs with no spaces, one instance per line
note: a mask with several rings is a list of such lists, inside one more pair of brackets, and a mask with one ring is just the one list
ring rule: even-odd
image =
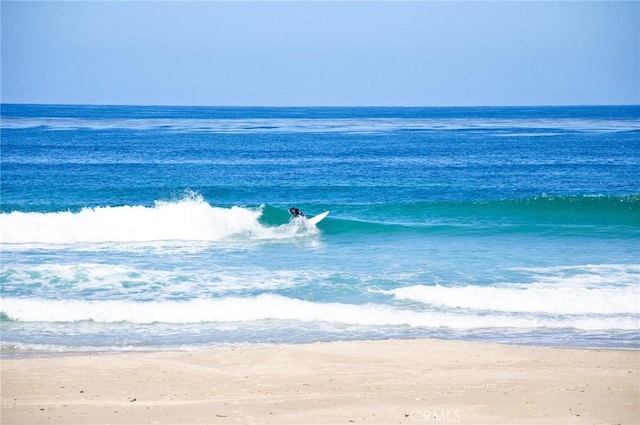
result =
[[314,232],[291,222],[261,224],[262,208],[215,207],[199,196],[153,207],[84,208],[79,212],[0,214],[4,244],[139,243],[157,241],[220,242],[283,239]]

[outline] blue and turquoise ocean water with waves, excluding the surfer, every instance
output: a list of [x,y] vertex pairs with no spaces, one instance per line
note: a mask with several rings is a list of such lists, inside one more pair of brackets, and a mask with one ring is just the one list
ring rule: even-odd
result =
[[3,104],[1,124],[5,355],[640,348],[639,106]]

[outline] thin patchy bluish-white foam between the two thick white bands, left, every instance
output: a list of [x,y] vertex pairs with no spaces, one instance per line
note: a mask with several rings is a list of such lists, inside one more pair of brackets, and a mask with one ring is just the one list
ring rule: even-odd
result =
[[258,266],[193,269],[186,265],[163,269],[101,263],[18,264],[3,267],[0,274],[5,293],[55,294],[57,298],[83,294],[85,299],[127,298],[137,302],[279,290],[323,277],[322,272],[268,270]]

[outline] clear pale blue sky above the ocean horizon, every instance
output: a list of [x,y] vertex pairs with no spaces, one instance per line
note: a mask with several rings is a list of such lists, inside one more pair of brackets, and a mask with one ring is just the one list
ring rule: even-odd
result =
[[640,104],[638,1],[7,1],[3,103]]

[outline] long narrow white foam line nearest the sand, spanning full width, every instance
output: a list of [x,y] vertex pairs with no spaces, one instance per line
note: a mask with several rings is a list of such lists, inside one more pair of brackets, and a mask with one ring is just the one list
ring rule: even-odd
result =
[[286,320],[338,323],[349,326],[407,326],[423,328],[575,328],[635,330],[629,316],[543,317],[536,315],[477,315],[468,312],[416,311],[378,304],[320,303],[262,294],[189,301],[84,301],[3,298],[2,313],[21,322],[206,323]]

